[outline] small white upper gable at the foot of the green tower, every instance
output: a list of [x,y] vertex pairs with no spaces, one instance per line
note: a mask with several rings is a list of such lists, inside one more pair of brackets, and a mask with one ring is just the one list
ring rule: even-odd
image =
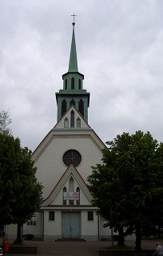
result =
[[[91,129],[91,127],[89,126],[89,124],[85,121],[85,118],[83,118],[83,116],[81,115],[80,112],[78,112],[78,110],[75,108],[75,106],[70,106],[70,108],[66,111],[65,114],[62,115],[62,118],[58,121],[58,123],[54,126],[54,129],[61,129],[61,128],[66,128],[65,126],[65,122],[66,119],[68,120],[68,122],[70,122],[70,113],[71,111],[74,110],[74,114],[75,114],[75,121],[78,120],[78,118],[80,119],[81,125],[80,126],[76,126],[76,129],[83,129],[83,128],[89,128]],[[69,123],[70,126],[70,123]],[[69,128],[69,126],[67,128]]]

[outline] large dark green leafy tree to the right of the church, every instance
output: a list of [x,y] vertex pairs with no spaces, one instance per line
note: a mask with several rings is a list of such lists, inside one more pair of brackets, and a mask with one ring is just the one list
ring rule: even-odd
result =
[[103,164],[93,166],[89,190],[105,226],[125,234],[141,234],[163,225],[163,145],[151,134],[117,135],[103,150]]

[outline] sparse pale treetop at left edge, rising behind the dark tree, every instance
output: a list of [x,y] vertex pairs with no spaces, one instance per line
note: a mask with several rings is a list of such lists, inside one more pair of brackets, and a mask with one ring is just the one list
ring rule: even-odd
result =
[[11,122],[12,121],[8,111],[0,111],[0,133],[11,134],[11,130],[8,127]]

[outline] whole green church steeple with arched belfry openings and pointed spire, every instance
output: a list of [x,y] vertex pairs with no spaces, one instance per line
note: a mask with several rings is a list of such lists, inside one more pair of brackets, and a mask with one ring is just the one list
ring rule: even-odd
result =
[[78,72],[74,25],[75,23],[73,22],[69,69],[66,74],[62,75],[63,89],[56,93],[58,121],[69,110],[70,106],[74,105],[83,118],[85,118],[85,121],[88,122],[89,93],[83,89],[84,75]]

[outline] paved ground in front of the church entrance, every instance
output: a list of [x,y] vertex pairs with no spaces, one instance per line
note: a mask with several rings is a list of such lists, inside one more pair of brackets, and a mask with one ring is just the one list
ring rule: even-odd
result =
[[[155,249],[156,242],[163,244],[163,240],[142,240],[141,249]],[[111,246],[111,242],[37,242],[24,241],[27,246],[37,246],[38,254],[42,256],[97,256],[99,250],[105,250]],[[116,245],[117,242],[114,242]],[[134,241],[126,241],[125,245],[135,246]],[[6,254],[6,256],[14,256],[15,254]],[[25,256],[25,254],[17,254],[17,256]],[[27,255],[26,255],[27,256]],[[33,255],[34,256],[34,255]]]

